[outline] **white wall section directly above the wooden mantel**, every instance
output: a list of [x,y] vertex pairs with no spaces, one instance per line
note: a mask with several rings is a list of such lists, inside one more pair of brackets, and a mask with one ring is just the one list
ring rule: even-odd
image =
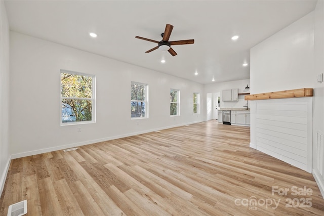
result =
[[251,94],[313,88],[314,13],[251,49]]

